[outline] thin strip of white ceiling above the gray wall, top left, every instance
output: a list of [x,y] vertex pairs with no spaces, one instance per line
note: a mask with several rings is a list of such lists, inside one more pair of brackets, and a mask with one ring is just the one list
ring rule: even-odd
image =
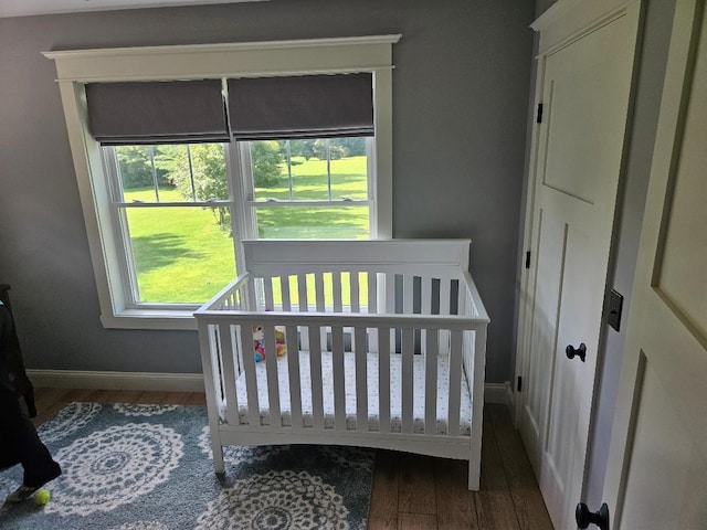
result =
[[267,0],[0,0],[0,18]]

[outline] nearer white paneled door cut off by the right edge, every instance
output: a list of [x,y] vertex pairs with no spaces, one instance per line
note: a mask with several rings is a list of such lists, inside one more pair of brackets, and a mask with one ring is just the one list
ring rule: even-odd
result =
[[604,483],[611,528],[705,529],[704,1],[678,0],[676,6],[631,306]]

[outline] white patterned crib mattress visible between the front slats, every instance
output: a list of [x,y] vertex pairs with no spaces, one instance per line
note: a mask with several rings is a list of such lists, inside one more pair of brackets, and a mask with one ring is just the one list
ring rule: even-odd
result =
[[[289,353],[287,353],[289,354]],[[279,382],[279,403],[282,424],[292,425],[292,407],[289,401],[289,374],[287,354],[277,359],[277,374]],[[346,389],[346,426],[347,430],[357,428],[356,407],[356,364],[355,353],[346,352],[345,365],[345,389]],[[367,381],[368,381],[368,430],[379,431],[379,356],[367,353]],[[390,423],[393,433],[402,430],[402,365],[401,356],[393,353],[390,356]],[[256,364],[256,381],[261,422],[264,425],[271,424],[268,394],[267,394],[267,372],[265,362]],[[436,434],[446,435],[449,432],[449,359],[446,356],[437,357],[437,399],[436,399]],[[331,352],[321,353],[323,372],[323,402],[324,402],[324,426],[334,428],[334,369],[331,363]],[[424,434],[425,417],[425,369],[424,356],[414,356],[414,388],[413,388],[413,432]],[[312,374],[309,364],[309,352],[299,352],[299,374],[302,388],[302,412],[305,427],[314,424],[313,399],[312,399]],[[247,423],[247,393],[245,385],[245,373],[242,373],[236,381],[236,395],[239,402],[239,415],[241,423]],[[221,411],[222,414],[225,411]],[[223,414],[224,415],[224,414]],[[471,435],[472,399],[469,388],[464,377],[461,384],[461,411],[460,411],[460,435]]]

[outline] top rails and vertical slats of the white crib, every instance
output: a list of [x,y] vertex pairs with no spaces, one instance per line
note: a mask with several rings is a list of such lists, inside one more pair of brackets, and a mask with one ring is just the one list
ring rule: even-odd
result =
[[[219,294],[211,306],[214,309],[200,310],[198,314],[200,327],[205,328],[202,337],[208,337],[210,351],[209,362],[217,370],[211,370],[213,374],[213,385],[215,395],[222,402],[220,409],[225,410],[225,420],[231,425],[247,423],[250,425],[262,425],[261,404],[258,403],[257,382],[255,374],[256,362],[253,357],[253,328],[261,327],[264,332],[265,342],[265,365],[267,373],[268,392],[268,423],[273,427],[282,427],[281,414],[281,392],[277,373],[277,354],[275,351],[275,328],[282,327],[285,330],[287,343],[288,363],[288,409],[292,417],[293,428],[305,428],[302,411],[302,381],[299,380],[299,350],[309,352],[313,417],[314,426],[324,428],[323,409],[323,384],[321,384],[321,354],[330,351],[334,362],[334,404],[335,404],[335,428],[346,430],[346,410],[344,379],[344,352],[352,351],[356,358],[356,404],[357,404],[357,430],[368,430],[368,400],[369,389],[367,386],[367,353],[376,352],[379,356],[379,368],[390,365],[390,356],[401,356],[402,367],[402,433],[413,432],[413,356],[425,354],[425,421],[424,430],[426,434],[436,428],[437,410],[437,362],[440,354],[449,356],[450,380],[449,380],[449,417],[447,434],[457,436],[460,434],[460,395],[461,378],[466,378],[469,388],[474,385],[483,386],[483,372],[485,359],[485,328],[488,318],[483,309],[483,304],[469,275],[465,275],[461,280],[456,280],[456,288],[445,288],[445,282],[428,280],[420,277],[395,278],[394,275],[369,274],[368,278],[373,279],[374,286],[395,285],[395,282],[403,283],[402,301],[395,289],[387,289],[386,305],[395,311],[403,307],[404,311],[399,312],[351,312],[354,309],[361,310],[357,304],[357,297],[351,296],[351,306],[348,311],[341,311],[341,289],[333,289],[333,298],[329,300],[335,312],[326,311],[327,300],[323,293],[324,278],[321,275],[314,275],[316,300],[309,304],[307,293],[307,275],[295,276],[298,285],[299,301],[292,304],[288,289],[283,285],[291,285],[293,278],[268,277],[255,278],[245,275],[233,282],[226,289]],[[303,280],[304,277],[304,280]],[[339,279],[342,275],[334,275]],[[349,274],[349,278],[357,278],[359,274]],[[418,278],[418,279],[415,279]],[[257,295],[257,282],[263,282],[264,294]],[[355,286],[352,280],[351,285]],[[407,284],[405,284],[407,283]],[[276,297],[273,285],[279,284],[282,304],[275,304]],[[435,286],[436,284],[436,286]],[[451,283],[450,283],[451,284]],[[336,285],[336,284],[335,284]],[[369,286],[371,282],[369,282]],[[410,296],[415,290],[415,285],[420,293],[420,298]],[[340,284],[339,284],[340,286]],[[429,287],[425,287],[429,286]],[[460,287],[461,286],[461,287]],[[447,295],[455,293],[455,299],[451,305]],[[435,296],[432,296],[432,293]],[[378,290],[370,290],[372,298],[378,299]],[[393,303],[390,303],[390,299]],[[436,298],[436,299],[435,299]],[[425,300],[425,301],[423,301]],[[254,309],[246,309],[246,308]],[[422,312],[439,312],[442,308],[456,307],[458,315],[439,315]],[[276,308],[276,311],[264,309]],[[282,309],[281,309],[282,308]],[[374,306],[367,305],[363,309],[374,309]],[[284,309],[284,310],[283,310]],[[338,309],[338,310],[337,310]],[[479,310],[481,309],[481,310]],[[447,311],[452,312],[452,311]],[[238,322],[238,324],[233,324]],[[348,340],[345,340],[348,339]],[[347,342],[350,346],[347,346]],[[304,344],[304,347],[303,347]],[[481,354],[475,354],[476,352]],[[244,373],[249,417],[243,422],[239,414],[239,403],[235,381]],[[475,377],[475,375],[478,375]],[[478,379],[478,381],[477,381]],[[378,378],[379,388],[376,389],[379,399],[379,414],[381,432],[390,432],[390,373],[380,369]],[[228,405],[228,406],[226,406]],[[479,412],[481,414],[481,412]]]

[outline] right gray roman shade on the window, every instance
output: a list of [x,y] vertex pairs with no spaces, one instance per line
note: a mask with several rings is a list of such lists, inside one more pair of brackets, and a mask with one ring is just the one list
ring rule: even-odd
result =
[[372,74],[229,80],[239,140],[373,135]]

